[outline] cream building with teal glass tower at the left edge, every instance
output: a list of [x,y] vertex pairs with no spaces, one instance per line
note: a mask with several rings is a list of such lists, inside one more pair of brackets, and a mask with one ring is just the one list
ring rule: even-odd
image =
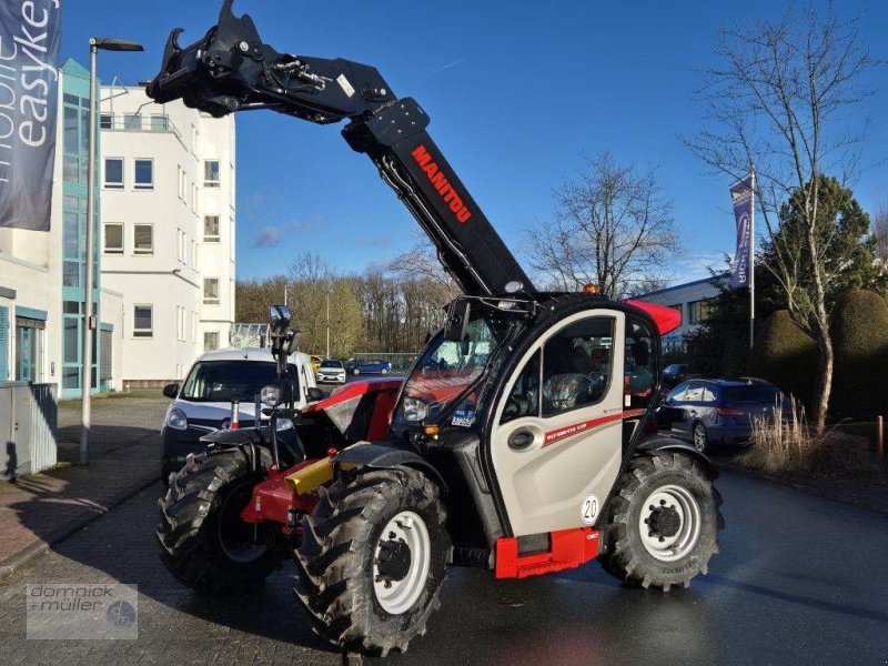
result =
[[[50,231],[0,229],[0,382],[54,383],[61,397],[74,397],[83,380],[89,72],[68,60],[60,79]],[[95,211],[98,233],[98,201]],[[98,330],[91,386],[118,390],[123,299],[102,284],[100,258],[92,259]]]

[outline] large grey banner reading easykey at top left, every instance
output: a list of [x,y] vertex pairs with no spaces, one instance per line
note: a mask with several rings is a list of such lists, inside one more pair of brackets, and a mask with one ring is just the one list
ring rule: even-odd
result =
[[0,2],[0,226],[49,231],[61,0]]

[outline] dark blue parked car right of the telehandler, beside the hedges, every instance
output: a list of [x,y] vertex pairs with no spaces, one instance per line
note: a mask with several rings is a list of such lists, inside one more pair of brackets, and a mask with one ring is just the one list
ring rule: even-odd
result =
[[[786,400],[763,380],[688,380],[668,393],[660,410],[669,416],[672,430],[705,451],[709,444],[747,443],[753,418],[773,420]],[[663,418],[659,422],[663,426]]]

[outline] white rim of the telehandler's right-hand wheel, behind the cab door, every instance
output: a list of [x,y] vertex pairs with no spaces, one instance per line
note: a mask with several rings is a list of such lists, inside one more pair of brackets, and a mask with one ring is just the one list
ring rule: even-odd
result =
[[645,501],[638,517],[645,549],[660,562],[685,557],[700,535],[700,507],[694,495],[679,485],[665,485]]

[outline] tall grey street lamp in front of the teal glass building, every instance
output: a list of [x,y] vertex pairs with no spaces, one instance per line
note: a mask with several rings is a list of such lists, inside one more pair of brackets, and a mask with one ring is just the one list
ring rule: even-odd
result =
[[[80,430],[80,464],[89,461],[87,454],[90,438],[90,390],[92,389],[92,332],[95,321],[92,314],[92,286],[94,275],[92,271],[94,241],[92,238],[95,223],[95,60],[99,50],[103,51],[144,51],[142,44],[114,37],[93,37],[90,39],[90,129],[89,129],[89,171],[87,172],[87,276],[85,299],[83,304],[83,365],[80,372],[81,389],[81,430]],[[98,369],[97,369],[98,371]]]

